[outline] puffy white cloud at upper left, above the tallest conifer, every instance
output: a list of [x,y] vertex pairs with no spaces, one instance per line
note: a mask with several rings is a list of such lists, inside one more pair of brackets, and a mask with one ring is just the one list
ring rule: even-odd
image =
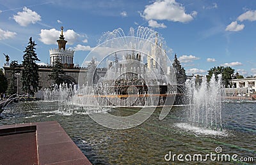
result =
[[13,15],[13,19],[21,26],[27,26],[29,24],[35,24],[41,20],[41,16],[35,11],[24,7],[22,12],[18,12],[17,15]]

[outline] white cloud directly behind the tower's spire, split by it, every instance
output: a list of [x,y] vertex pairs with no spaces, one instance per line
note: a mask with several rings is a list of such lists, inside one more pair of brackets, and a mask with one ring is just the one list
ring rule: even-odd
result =
[[[56,29],[41,29],[40,32],[40,41],[47,45],[54,45],[57,44],[56,40],[59,39],[61,31]],[[78,40],[80,35],[75,32],[74,30],[68,29],[67,31],[63,32],[65,40],[67,40],[67,45],[73,45],[74,42]]]

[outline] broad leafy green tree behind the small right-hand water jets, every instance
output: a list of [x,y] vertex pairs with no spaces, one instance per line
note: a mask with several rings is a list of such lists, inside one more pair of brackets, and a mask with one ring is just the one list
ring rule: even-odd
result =
[[232,69],[230,66],[218,66],[218,67],[213,67],[208,71],[207,81],[209,82],[214,75],[215,80],[218,80],[218,75],[222,75],[222,83],[227,87],[227,85],[230,85],[229,80],[232,80],[232,75],[234,75],[235,69]]

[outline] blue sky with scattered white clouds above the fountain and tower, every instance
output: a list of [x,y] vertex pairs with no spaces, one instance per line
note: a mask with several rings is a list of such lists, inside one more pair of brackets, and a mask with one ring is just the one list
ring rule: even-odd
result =
[[49,63],[61,26],[80,66],[104,32],[120,27],[128,34],[131,27],[143,26],[163,36],[168,57],[177,54],[187,75],[230,66],[256,76],[254,0],[0,0],[0,68],[3,54],[22,62],[30,37],[40,62]]

